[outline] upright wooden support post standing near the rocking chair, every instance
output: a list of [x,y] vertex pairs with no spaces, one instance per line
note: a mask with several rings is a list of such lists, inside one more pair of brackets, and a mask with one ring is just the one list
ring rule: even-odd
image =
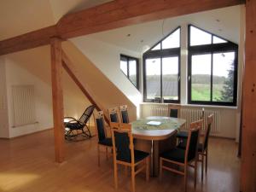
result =
[[51,38],[50,45],[52,104],[55,133],[55,161],[61,163],[64,160],[61,39]]

